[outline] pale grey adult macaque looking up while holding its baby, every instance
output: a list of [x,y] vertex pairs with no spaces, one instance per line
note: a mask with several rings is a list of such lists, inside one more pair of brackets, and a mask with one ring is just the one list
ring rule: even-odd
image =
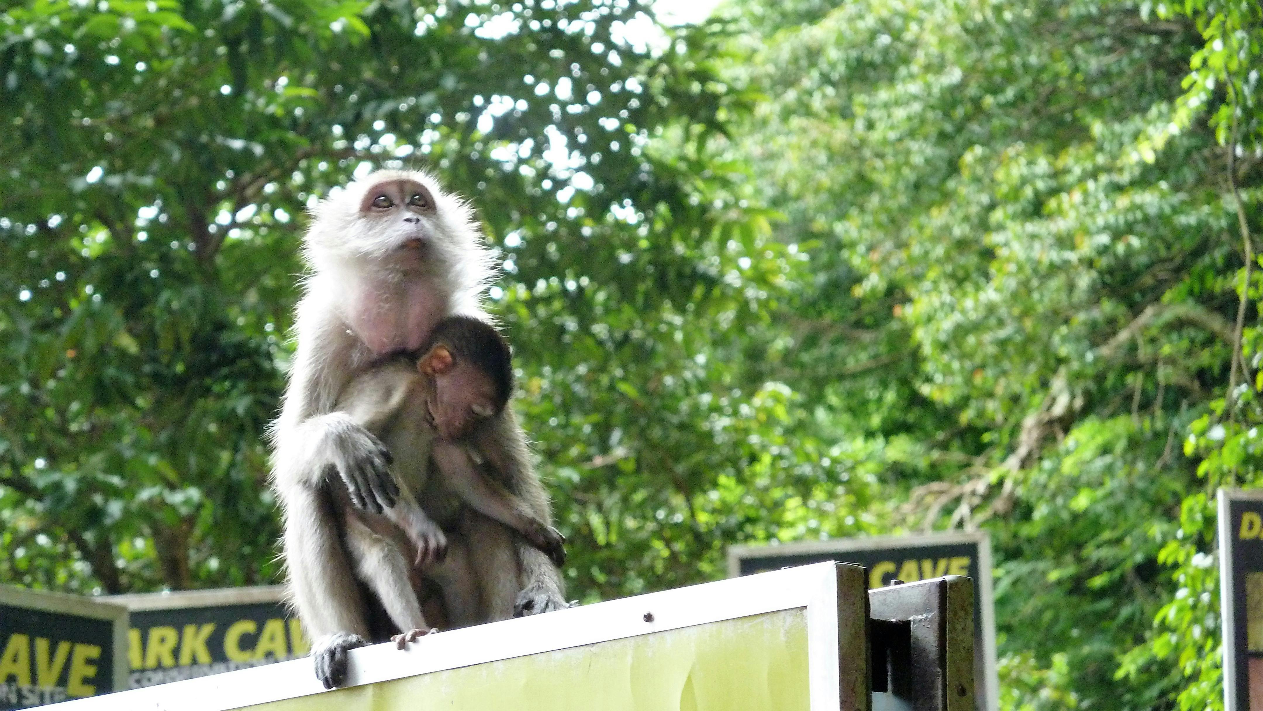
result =
[[[345,678],[346,650],[366,644],[373,620],[330,491],[342,486],[375,513],[398,496],[390,452],[335,404],[354,376],[390,354],[416,351],[443,317],[482,316],[493,260],[470,207],[419,172],[373,173],[322,201],[312,217],[303,240],[311,274],[296,309],[297,351],[270,432],[272,477],[284,517],[292,604],[312,639],[317,676],[331,687]],[[547,496],[513,410],[484,427],[513,460],[504,475],[515,493],[547,519]],[[519,591],[517,614],[566,606],[560,571],[542,552],[513,537],[493,538],[488,543],[499,547],[504,565],[476,572]]]

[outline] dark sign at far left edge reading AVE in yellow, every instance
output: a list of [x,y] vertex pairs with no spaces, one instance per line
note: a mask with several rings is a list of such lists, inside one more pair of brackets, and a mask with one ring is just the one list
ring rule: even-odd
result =
[[128,610],[0,586],[0,710],[119,691]]

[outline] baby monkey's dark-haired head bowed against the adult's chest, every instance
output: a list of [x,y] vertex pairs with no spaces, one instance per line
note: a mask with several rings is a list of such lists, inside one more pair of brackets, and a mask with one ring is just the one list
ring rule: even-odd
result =
[[440,437],[464,437],[509,403],[513,355],[490,323],[450,316],[434,326],[422,352],[417,370],[433,380],[427,405]]

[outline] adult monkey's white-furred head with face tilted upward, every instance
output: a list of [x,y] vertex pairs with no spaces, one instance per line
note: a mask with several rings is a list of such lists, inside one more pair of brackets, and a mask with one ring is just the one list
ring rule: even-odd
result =
[[312,212],[307,245],[317,268],[351,256],[443,272],[480,249],[470,208],[421,172],[371,173]]

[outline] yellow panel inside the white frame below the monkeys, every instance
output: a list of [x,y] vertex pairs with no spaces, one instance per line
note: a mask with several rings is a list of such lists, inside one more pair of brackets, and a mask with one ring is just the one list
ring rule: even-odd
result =
[[807,615],[764,612],[432,672],[250,711],[807,711]]

